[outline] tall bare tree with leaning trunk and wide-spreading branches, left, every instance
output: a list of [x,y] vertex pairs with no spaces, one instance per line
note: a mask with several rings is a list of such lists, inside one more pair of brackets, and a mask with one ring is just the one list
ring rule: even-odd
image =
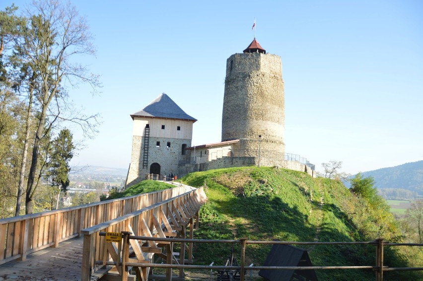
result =
[[[75,56],[93,55],[91,34],[85,19],[76,9],[59,0],[34,0],[28,11],[29,24],[17,51],[35,75],[34,103],[37,105],[37,129],[26,186],[26,214],[33,212],[37,186],[40,141],[50,134],[54,124],[70,120],[81,125],[84,133],[95,132],[96,115],[78,116],[67,103],[67,85],[85,82],[95,91],[98,76],[90,74]],[[64,112],[67,112],[64,114]]]

